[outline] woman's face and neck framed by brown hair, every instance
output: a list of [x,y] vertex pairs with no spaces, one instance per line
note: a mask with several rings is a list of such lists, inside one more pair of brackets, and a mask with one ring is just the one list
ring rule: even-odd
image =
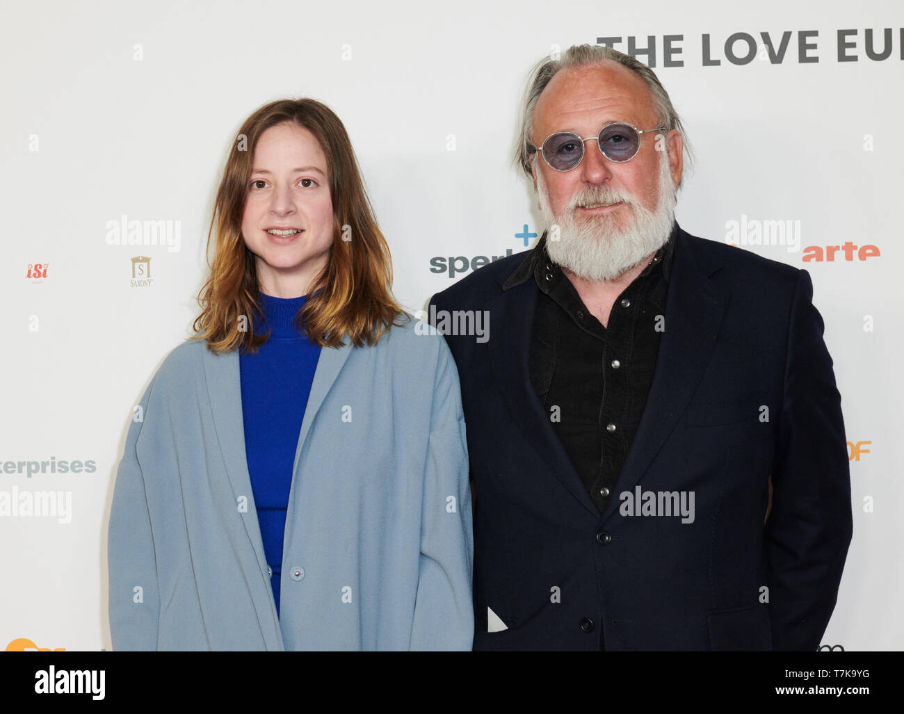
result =
[[260,290],[274,297],[307,295],[326,265],[333,231],[323,149],[297,124],[269,127],[254,150],[241,218],[242,238],[257,256]]

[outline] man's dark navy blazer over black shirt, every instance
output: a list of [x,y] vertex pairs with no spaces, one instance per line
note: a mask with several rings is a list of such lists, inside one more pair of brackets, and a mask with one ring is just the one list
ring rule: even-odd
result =
[[[503,287],[530,252],[430,301],[438,324],[443,310],[489,319],[488,340],[446,335],[474,488],[476,650],[820,644],[852,512],[810,277],[680,227],[674,250],[653,383],[602,514],[530,380],[536,282]],[[658,517],[628,502],[645,492]],[[663,515],[675,493],[693,494],[692,522]],[[506,629],[488,632],[502,626],[490,610]]]

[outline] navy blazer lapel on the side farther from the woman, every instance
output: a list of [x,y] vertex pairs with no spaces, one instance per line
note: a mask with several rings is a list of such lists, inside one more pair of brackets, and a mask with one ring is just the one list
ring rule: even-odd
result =
[[[678,230],[653,382],[618,475],[618,491],[634,488],[702,380],[729,299],[709,278],[719,268],[718,263],[710,264],[703,258],[687,233]],[[613,498],[605,515],[611,515],[617,507],[618,499]]]

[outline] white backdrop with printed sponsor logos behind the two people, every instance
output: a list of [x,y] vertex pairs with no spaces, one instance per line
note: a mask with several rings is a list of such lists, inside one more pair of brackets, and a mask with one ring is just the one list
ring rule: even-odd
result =
[[[653,35],[654,69],[697,159],[678,220],[806,268],[824,316],[847,438],[859,446],[853,541],[823,642],[901,649],[899,0],[730,10],[718,0],[0,7],[0,646],[110,648],[106,537],[118,459],[133,405],[190,334],[212,197],[244,117],[308,96],[343,119],[390,243],[396,295],[413,311],[465,274],[450,276],[443,267],[465,261],[449,258],[517,252],[525,224],[541,232],[510,162],[533,62],[604,37],[621,37],[623,52],[629,38],[646,48]],[[890,52],[878,59],[886,28]],[[856,61],[839,61],[844,30],[843,53]],[[760,33],[778,48],[786,32],[784,56],[770,61]],[[756,43],[747,63],[743,36],[726,50],[735,33]],[[682,36],[669,41],[682,66],[664,66],[668,35]],[[704,57],[703,35],[719,64]],[[800,42],[811,61],[801,61]],[[108,221],[123,216],[173,221],[179,240],[110,245]],[[751,244],[753,221],[791,221],[792,232],[785,244]],[[851,260],[842,251],[805,260],[846,241],[857,246]],[[150,258],[149,284],[132,282],[136,257]],[[52,473],[61,461],[70,472]],[[28,462],[39,465],[31,475]],[[24,492],[61,493],[63,512],[17,512]]]

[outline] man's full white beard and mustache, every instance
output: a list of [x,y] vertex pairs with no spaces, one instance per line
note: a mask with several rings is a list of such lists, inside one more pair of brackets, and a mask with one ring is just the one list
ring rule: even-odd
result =
[[[631,193],[608,186],[588,186],[571,197],[564,215],[553,215],[543,174],[538,169],[537,191],[543,220],[550,230],[554,225],[559,227],[559,240],[551,240],[549,234],[546,238],[546,250],[553,262],[587,280],[615,280],[665,244],[672,232],[677,192],[669,173],[668,155],[664,151],[660,154],[659,204],[655,211],[645,209]],[[632,214],[627,217],[626,229],[618,225],[619,217],[615,215],[593,216],[580,223],[574,219],[579,204],[619,201]]]

